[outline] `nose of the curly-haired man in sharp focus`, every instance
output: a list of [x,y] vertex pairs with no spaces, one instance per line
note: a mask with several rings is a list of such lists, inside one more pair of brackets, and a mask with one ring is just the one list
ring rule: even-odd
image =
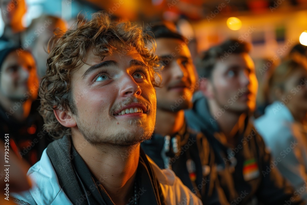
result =
[[121,97],[140,96],[142,93],[140,86],[130,74],[122,77],[120,82],[119,95]]

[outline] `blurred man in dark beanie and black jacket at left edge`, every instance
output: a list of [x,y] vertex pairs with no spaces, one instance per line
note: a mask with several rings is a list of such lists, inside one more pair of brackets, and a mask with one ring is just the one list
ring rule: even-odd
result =
[[42,118],[33,101],[38,79],[32,54],[19,47],[0,50],[0,133],[10,135],[10,151],[35,164],[47,147]]

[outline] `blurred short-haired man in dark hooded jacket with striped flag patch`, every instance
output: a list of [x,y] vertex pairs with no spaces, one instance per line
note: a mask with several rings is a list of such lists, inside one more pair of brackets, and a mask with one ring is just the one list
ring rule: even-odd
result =
[[198,59],[200,93],[187,123],[207,137],[230,204],[305,204],[280,175],[250,122],[258,82],[250,46],[227,40]]

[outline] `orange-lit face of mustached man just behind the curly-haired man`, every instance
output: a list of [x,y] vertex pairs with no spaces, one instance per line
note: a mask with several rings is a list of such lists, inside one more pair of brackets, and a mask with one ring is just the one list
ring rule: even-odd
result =
[[[195,73],[190,50],[181,40],[175,38],[158,38],[156,54],[161,57],[162,83],[157,91],[157,108],[173,111],[192,106],[192,86],[195,84]],[[176,105],[179,102],[179,105]]]

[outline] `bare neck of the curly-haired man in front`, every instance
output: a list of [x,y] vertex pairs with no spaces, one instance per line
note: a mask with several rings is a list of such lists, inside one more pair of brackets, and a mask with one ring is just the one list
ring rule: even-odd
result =
[[140,144],[129,147],[96,146],[89,144],[81,134],[73,136],[72,143],[112,201],[127,204],[134,193]]

